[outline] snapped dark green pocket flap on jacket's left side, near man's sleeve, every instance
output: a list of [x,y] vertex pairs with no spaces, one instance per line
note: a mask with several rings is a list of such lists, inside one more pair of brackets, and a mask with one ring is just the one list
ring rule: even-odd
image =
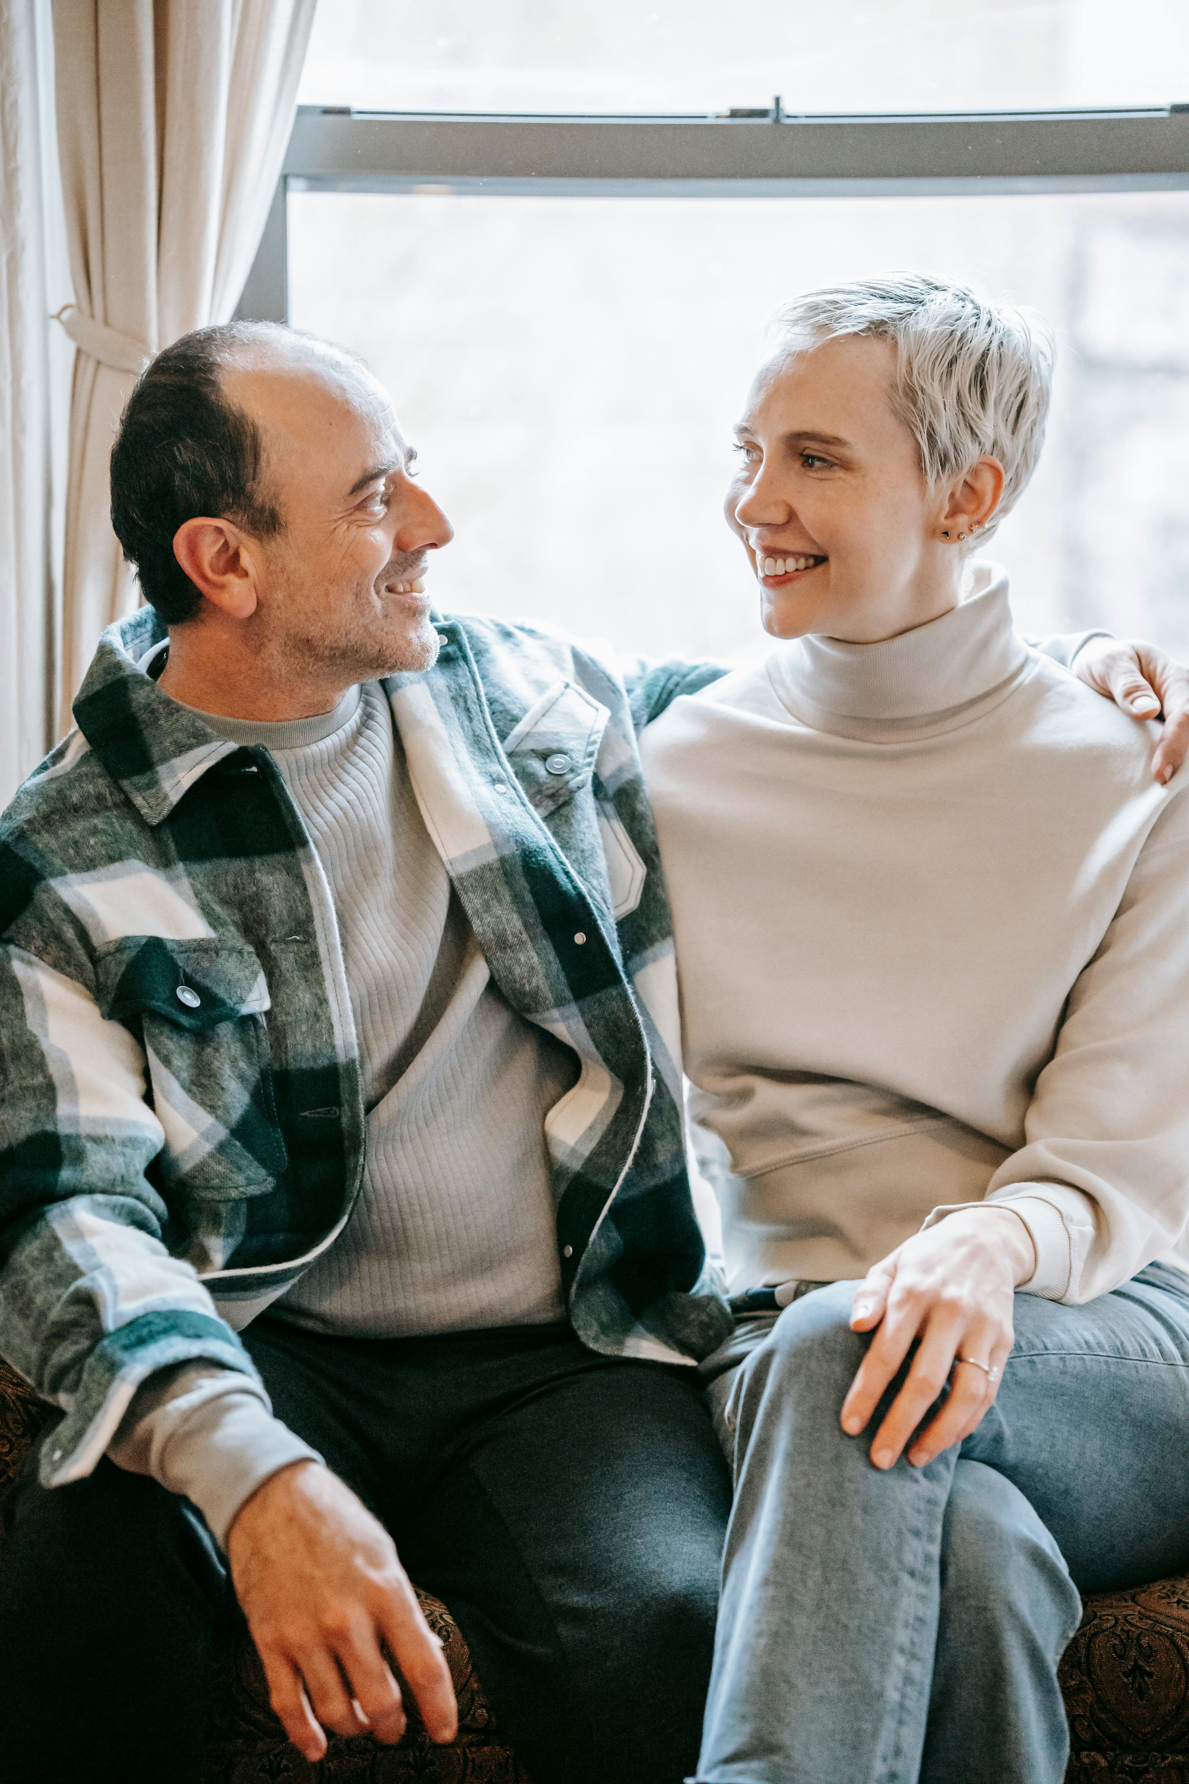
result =
[[176,1028],[207,1029],[271,1004],[248,942],[125,935],[96,960],[96,981],[100,1012],[116,1022],[152,1010]]

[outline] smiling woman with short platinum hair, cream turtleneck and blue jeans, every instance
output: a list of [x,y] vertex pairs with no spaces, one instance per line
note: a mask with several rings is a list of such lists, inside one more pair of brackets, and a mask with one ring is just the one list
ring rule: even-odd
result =
[[1048,387],[959,287],[791,303],[727,519],[793,642],[645,733],[734,1172],[702,1784],[1057,1784],[1078,1588],[1189,1561],[1189,781],[970,562]]

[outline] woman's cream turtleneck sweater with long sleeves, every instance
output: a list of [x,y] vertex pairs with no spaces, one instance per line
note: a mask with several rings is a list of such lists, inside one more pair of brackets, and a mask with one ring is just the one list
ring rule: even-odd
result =
[[731,1286],[863,1276],[1013,1208],[1029,1292],[1189,1263],[1189,780],[977,566],[882,644],[800,639],[644,737]]

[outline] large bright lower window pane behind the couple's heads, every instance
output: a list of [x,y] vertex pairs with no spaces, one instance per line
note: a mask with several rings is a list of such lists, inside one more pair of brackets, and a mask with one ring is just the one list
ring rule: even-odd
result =
[[1039,471],[989,548],[1020,624],[1189,649],[1189,194],[289,211],[292,321],[367,357],[455,521],[442,607],[649,653],[763,649],[722,519],[763,326],[808,285],[920,266],[1057,330]]

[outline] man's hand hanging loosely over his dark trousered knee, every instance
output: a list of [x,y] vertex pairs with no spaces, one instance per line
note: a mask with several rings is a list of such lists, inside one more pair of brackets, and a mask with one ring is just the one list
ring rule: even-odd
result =
[[292,1745],[312,1763],[335,1734],[405,1732],[408,1681],[435,1741],[453,1741],[458,1707],[433,1634],[392,1538],[355,1493],[314,1461],[271,1475],[241,1506],[226,1538],[235,1595]]

